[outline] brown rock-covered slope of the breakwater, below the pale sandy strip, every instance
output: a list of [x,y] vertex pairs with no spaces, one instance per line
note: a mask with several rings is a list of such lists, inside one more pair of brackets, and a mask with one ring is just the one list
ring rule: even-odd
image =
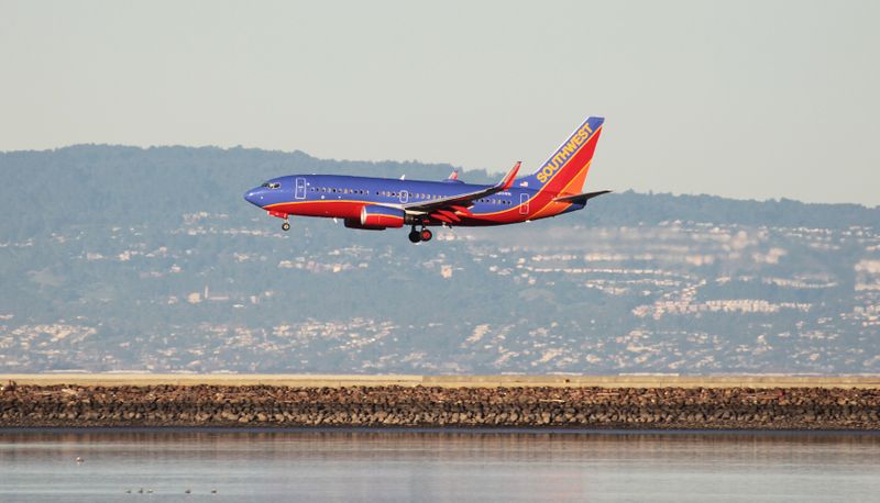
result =
[[880,390],[4,385],[0,426],[880,429]]

